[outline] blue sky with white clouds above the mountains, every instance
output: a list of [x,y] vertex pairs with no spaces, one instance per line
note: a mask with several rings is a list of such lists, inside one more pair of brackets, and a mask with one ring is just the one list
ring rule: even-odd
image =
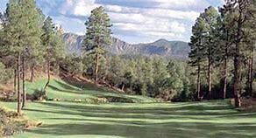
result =
[[[90,11],[103,6],[110,16],[113,36],[131,44],[160,38],[189,41],[191,27],[205,8],[224,0],[36,0],[46,16],[66,32],[83,35]],[[0,0],[0,11],[8,0]]]

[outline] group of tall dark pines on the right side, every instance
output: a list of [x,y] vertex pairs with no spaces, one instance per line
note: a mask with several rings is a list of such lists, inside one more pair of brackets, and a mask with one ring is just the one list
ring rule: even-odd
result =
[[[218,10],[210,6],[197,17],[189,43],[189,64],[196,68],[197,100],[203,99],[203,96],[211,99],[212,74],[217,71],[222,74],[220,86],[223,99],[226,98],[228,83],[237,107],[241,106],[242,94],[252,97],[255,78],[255,2],[226,0]],[[204,72],[207,72],[208,83],[205,94],[201,90]]]

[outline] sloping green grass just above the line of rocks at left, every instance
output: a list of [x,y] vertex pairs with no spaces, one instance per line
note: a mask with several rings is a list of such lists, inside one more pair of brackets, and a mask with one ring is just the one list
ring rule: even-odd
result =
[[[39,79],[34,83],[26,83],[27,93],[34,93],[35,90],[42,89],[46,84],[46,79]],[[125,93],[118,93],[110,89],[99,88],[95,85],[85,85],[81,87],[72,86],[61,79],[52,79],[46,89],[46,94],[49,99],[60,99],[65,101],[74,101],[75,99],[86,100],[96,99],[100,97],[117,97],[133,102],[154,102],[153,98],[129,95]]]

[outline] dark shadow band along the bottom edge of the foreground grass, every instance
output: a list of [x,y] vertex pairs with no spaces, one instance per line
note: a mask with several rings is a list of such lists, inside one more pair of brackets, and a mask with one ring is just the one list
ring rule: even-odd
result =
[[63,123],[46,125],[30,130],[37,135],[108,135],[132,138],[170,137],[255,137],[255,126],[250,124],[224,124],[202,122],[169,122],[134,126],[98,121],[96,123]]

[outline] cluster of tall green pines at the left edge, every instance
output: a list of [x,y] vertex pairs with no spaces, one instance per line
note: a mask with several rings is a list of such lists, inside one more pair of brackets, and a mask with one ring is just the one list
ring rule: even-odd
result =
[[51,17],[46,17],[37,8],[34,0],[12,0],[0,17],[1,64],[3,70],[12,72],[8,75],[14,79],[20,114],[21,108],[25,107],[28,68],[31,69],[33,81],[35,66],[47,63],[48,85],[51,66],[65,56],[62,32],[55,27]]

